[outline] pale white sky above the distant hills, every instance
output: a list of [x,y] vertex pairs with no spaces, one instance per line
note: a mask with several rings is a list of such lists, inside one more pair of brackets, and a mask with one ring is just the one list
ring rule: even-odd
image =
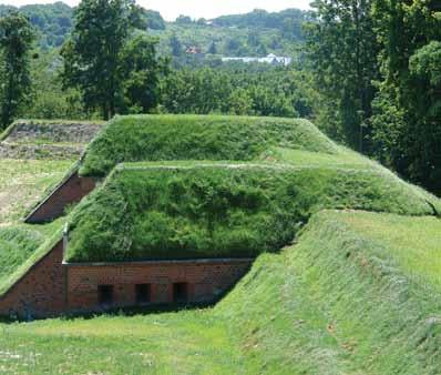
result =
[[[253,9],[279,11],[287,8],[308,9],[311,0],[137,0],[140,6],[157,10],[167,20],[175,20],[185,14],[192,18],[215,18],[223,14],[246,13]],[[50,3],[51,0],[0,0],[0,4],[16,7],[30,3]],[[76,6],[79,0],[64,0],[70,6]]]

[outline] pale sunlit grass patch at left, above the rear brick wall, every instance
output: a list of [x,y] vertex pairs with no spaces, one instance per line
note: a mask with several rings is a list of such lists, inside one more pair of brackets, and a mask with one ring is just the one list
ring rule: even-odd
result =
[[73,163],[0,159],[0,224],[22,217],[61,181]]

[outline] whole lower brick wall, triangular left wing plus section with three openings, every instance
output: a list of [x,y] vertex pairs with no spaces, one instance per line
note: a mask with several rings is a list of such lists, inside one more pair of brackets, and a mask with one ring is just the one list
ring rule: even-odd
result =
[[[62,261],[60,242],[0,297],[0,315],[47,317],[137,305],[215,302],[252,264],[249,259],[115,264]],[[100,295],[103,287],[104,303]]]

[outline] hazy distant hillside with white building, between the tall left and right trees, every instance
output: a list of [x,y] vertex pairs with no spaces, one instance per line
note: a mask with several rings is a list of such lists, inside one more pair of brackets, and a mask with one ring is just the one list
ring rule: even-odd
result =
[[192,53],[209,53],[230,57],[297,54],[302,42],[301,27],[309,20],[309,12],[287,9],[281,12],[254,10],[246,14],[222,16],[213,20],[192,20],[178,17],[156,34],[161,51],[178,57],[188,49]]

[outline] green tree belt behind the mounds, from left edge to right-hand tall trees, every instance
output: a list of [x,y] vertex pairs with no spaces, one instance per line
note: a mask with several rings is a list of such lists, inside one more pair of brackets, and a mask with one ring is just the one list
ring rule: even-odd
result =
[[207,60],[192,69],[172,69],[171,59],[157,53],[158,40],[145,31],[145,10],[133,0],[83,0],[60,50],[33,49],[38,34],[19,11],[1,20],[14,23],[12,28],[23,37],[13,41],[3,28],[4,39],[22,43],[18,47],[22,53],[10,51],[20,61],[4,69],[21,75],[11,84],[17,90],[14,108],[1,110],[2,128],[21,114],[47,119],[110,119],[115,113],[146,112],[312,116],[316,99],[305,84],[307,72],[293,67]]

